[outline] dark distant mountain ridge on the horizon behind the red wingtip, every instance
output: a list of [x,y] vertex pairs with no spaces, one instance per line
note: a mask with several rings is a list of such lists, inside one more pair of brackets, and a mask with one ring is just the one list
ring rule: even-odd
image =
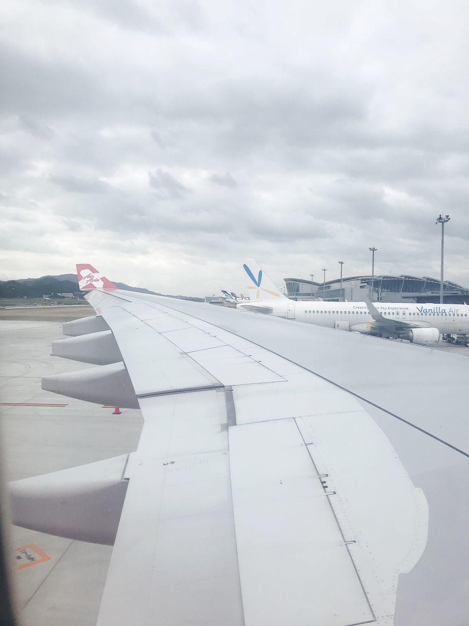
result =
[[[114,281],[111,281],[114,282]],[[123,282],[114,282],[116,287],[126,291],[134,291],[140,294],[164,295],[143,287],[131,287]],[[78,294],[78,279],[76,274],[60,274],[59,276],[42,276],[41,278],[23,278],[18,280],[0,280],[0,298],[41,298],[43,295]],[[83,292],[81,292],[83,294]],[[203,298],[189,295],[168,295],[169,298],[181,300],[193,300],[203,302]]]

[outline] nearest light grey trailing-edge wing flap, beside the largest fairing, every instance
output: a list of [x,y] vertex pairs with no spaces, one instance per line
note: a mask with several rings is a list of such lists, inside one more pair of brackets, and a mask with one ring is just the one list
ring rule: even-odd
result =
[[242,626],[224,394],[141,404],[98,625]]

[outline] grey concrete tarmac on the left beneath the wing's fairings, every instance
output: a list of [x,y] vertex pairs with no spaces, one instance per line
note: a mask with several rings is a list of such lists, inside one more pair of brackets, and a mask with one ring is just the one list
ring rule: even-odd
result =
[[[41,389],[41,376],[93,367],[49,356],[51,342],[61,337],[61,324],[56,322],[0,321],[0,416],[6,480],[118,456],[138,444],[143,423],[140,411],[121,409],[121,415],[113,415],[113,408]],[[49,560],[18,568],[23,562],[16,560],[17,549],[31,544]],[[111,546],[13,526],[11,548],[23,626],[96,624]]]

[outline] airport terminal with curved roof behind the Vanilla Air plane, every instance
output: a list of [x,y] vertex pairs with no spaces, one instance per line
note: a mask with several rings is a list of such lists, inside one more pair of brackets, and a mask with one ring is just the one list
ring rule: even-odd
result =
[[[286,278],[286,295],[293,300],[323,299],[328,302],[359,302],[365,295],[370,297],[371,275],[350,276],[342,279],[313,282],[311,280]],[[445,302],[469,304],[469,289],[445,280]],[[375,302],[440,302],[440,280],[423,276],[375,276],[373,298]]]

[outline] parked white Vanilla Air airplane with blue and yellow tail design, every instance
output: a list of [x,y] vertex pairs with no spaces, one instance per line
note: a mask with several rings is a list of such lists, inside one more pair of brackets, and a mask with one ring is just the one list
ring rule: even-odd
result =
[[237,309],[296,319],[318,326],[362,332],[381,337],[408,339],[420,344],[436,344],[441,333],[469,334],[469,305],[405,304],[386,302],[325,302],[285,297],[253,259],[243,265],[251,280],[248,304]]

